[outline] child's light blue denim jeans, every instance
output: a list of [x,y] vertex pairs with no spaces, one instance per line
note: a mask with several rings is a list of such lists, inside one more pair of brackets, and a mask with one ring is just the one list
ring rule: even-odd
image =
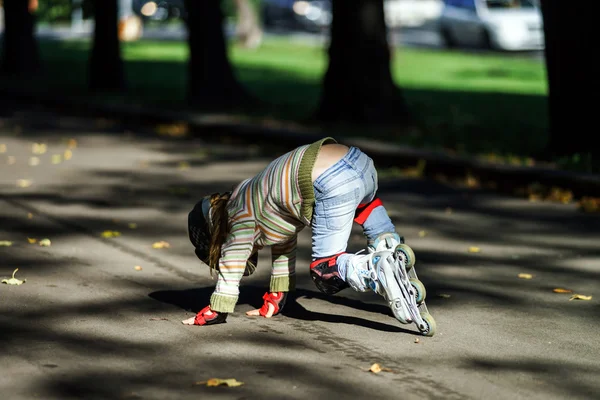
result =
[[[346,251],[356,209],[373,201],[377,193],[377,171],[373,160],[356,147],[350,147],[340,161],[323,172],[313,184],[315,209],[311,223],[312,259]],[[367,241],[396,228],[383,206],[373,209],[362,225]],[[340,257],[340,272],[348,257]],[[339,265],[339,264],[343,265]],[[345,279],[345,274],[341,274]]]

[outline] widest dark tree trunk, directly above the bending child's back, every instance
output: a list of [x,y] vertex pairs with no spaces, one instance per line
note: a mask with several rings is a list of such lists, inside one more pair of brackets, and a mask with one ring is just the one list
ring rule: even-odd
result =
[[409,122],[390,70],[383,0],[333,0],[329,66],[317,118],[356,123]]

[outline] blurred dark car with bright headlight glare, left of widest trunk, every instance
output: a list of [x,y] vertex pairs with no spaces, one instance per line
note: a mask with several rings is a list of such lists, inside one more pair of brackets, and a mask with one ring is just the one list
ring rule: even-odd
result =
[[319,32],[331,24],[329,0],[263,0],[261,3],[265,28]]

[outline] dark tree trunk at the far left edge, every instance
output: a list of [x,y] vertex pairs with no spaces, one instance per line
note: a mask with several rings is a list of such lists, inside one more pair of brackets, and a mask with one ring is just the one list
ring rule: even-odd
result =
[[8,75],[30,75],[40,68],[35,18],[30,4],[23,0],[4,0],[4,43],[2,70]]

